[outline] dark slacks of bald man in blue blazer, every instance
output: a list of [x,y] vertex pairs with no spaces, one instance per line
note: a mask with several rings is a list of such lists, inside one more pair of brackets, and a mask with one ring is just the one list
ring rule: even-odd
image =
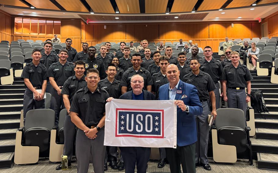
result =
[[177,148],[165,148],[171,173],[196,173],[195,143]]

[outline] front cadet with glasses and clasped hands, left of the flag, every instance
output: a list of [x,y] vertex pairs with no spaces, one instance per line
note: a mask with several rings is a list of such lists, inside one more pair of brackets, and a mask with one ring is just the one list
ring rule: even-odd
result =
[[89,69],[85,78],[87,86],[78,90],[71,103],[71,121],[78,127],[76,134],[76,159],[78,172],[88,172],[92,157],[95,173],[104,172],[105,104],[106,90],[97,87],[100,81],[97,69]]

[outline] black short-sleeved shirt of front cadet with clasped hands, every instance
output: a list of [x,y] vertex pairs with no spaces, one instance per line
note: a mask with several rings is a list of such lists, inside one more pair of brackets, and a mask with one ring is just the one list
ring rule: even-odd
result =
[[92,93],[86,86],[74,94],[70,111],[79,114],[79,118],[86,126],[97,125],[104,116],[108,97],[109,94],[104,89],[97,87]]

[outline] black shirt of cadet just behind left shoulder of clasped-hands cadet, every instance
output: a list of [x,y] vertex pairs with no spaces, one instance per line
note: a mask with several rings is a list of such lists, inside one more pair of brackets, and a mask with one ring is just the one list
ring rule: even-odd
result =
[[87,86],[87,82],[85,80],[85,75],[82,76],[80,80],[74,75],[70,76],[63,85],[63,89],[61,94],[69,95],[69,101],[72,102],[72,98],[76,91],[80,90]]

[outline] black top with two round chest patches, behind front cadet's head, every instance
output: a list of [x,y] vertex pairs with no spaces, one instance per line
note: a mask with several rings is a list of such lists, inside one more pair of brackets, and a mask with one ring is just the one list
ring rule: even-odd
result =
[[97,69],[99,72],[99,77],[101,79],[105,78],[106,73],[105,73],[104,65],[101,60],[98,60],[97,58],[93,58],[91,61],[90,58],[88,57],[84,59],[83,62],[85,62],[85,69],[86,69],[84,75],[87,74],[87,69]]

